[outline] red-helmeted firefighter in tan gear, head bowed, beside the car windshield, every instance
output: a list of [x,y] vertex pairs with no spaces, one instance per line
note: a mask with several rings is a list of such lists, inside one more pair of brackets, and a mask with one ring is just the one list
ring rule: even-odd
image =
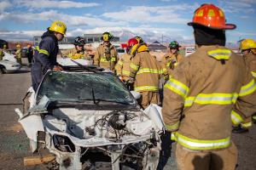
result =
[[139,104],[145,109],[150,104],[160,104],[159,80],[160,68],[157,60],[149,54],[145,42],[139,43],[131,38],[127,43],[131,54],[130,82],[134,82],[134,90],[142,94]]

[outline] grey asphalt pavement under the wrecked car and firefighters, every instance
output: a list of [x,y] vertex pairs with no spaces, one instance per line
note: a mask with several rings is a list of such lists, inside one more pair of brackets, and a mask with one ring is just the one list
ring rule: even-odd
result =
[[[20,123],[15,108],[22,109],[22,98],[27,88],[31,85],[29,68],[23,67],[21,71],[12,74],[0,75],[0,169],[45,169],[44,166],[24,167],[23,157],[32,156],[29,152],[29,144]],[[234,140],[238,151],[238,170],[256,169],[256,126],[250,129],[249,133],[234,134]],[[166,138],[165,145],[171,148]],[[163,168],[177,169],[173,151],[175,144],[172,144],[172,152],[161,159]],[[172,157],[168,157],[168,156]],[[166,164],[166,165],[165,165]],[[165,166],[164,166],[165,165]]]

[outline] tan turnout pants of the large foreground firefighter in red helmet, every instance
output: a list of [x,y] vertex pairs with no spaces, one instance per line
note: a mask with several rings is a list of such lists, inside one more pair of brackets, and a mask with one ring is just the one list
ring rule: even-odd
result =
[[237,162],[236,145],[224,150],[189,150],[177,144],[178,170],[234,170]]

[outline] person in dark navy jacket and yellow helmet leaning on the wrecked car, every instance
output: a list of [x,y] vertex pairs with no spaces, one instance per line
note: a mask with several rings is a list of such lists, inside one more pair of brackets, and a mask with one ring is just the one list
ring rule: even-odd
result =
[[57,63],[59,52],[58,41],[61,41],[66,34],[67,26],[60,20],[54,21],[44,32],[39,46],[36,47],[32,65],[32,88],[37,92],[38,86],[48,70],[61,71]]

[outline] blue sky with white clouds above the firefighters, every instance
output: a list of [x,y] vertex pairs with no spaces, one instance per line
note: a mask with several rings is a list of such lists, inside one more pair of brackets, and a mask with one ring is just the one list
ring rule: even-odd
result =
[[148,42],[190,43],[193,30],[187,22],[202,3],[223,8],[227,22],[236,24],[236,30],[227,31],[228,42],[256,40],[256,0],[1,0],[0,38],[32,39],[41,36],[52,20],[63,20],[67,36],[110,31],[122,40],[140,35]]

